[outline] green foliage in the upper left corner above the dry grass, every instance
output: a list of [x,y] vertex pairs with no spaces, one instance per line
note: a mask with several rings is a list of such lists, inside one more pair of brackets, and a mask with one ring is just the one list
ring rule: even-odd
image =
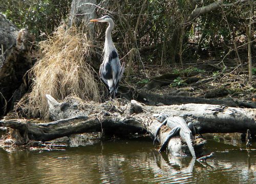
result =
[[38,39],[51,34],[66,19],[72,0],[2,0],[0,11],[19,29],[28,28]]

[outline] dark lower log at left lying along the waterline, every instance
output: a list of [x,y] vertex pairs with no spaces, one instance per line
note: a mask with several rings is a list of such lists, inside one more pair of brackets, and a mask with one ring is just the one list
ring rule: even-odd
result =
[[98,119],[96,116],[77,116],[74,118],[61,119],[50,123],[32,123],[24,119],[1,120],[0,126],[10,127],[19,130],[20,135],[33,141],[51,141],[59,137],[76,133],[104,131],[116,135],[129,133],[145,133],[145,128],[133,119],[124,120],[120,116],[110,119],[103,116]]

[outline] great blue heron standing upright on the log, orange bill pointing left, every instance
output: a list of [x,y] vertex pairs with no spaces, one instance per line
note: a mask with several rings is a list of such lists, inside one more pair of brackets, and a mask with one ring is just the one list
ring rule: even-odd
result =
[[119,81],[122,78],[124,71],[124,62],[121,66],[117,50],[111,36],[111,32],[114,29],[115,24],[109,15],[105,15],[97,19],[92,19],[90,21],[109,22],[109,27],[106,28],[105,44],[103,49],[104,57],[103,62],[99,68],[99,75],[103,82],[109,86],[110,94],[113,93],[113,98],[115,99]]

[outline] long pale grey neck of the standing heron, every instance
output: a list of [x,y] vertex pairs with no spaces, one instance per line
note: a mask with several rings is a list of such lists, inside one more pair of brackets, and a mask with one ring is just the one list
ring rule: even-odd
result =
[[105,35],[105,44],[104,44],[104,55],[110,55],[113,51],[113,49],[115,49],[115,45],[112,41],[112,36],[111,36],[111,32],[114,29],[114,21],[110,21],[109,22],[109,27],[106,28],[106,35]]

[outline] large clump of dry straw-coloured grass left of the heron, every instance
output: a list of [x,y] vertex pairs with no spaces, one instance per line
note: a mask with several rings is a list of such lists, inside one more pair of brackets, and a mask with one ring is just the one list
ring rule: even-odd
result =
[[100,87],[90,66],[92,43],[76,27],[57,28],[39,42],[42,58],[32,67],[32,91],[16,105],[23,116],[48,118],[46,94],[57,100],[74,95],[99,102]]

